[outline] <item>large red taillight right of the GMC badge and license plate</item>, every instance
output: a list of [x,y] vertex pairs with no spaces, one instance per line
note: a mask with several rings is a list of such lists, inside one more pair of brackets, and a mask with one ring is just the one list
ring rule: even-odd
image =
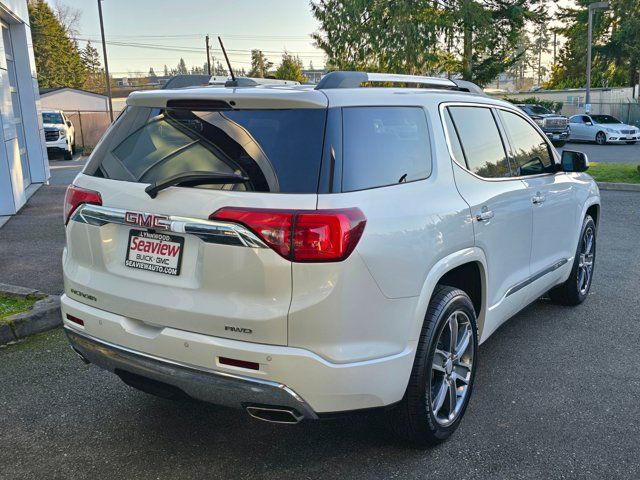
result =
[[366,218],[358,208],[265,210],[224,207],[210,220],[241,223],[294,262],[339,262],[356,248]]

